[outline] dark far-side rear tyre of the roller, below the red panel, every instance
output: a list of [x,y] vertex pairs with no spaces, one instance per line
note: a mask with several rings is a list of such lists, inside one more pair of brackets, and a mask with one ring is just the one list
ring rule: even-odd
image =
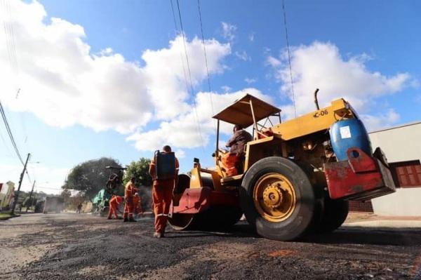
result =
[[316,228],[316,232],[328,233],[338,229],[347,219],[348,212],[348,201],[334,200],[326,197],[323,215],[319,226]]

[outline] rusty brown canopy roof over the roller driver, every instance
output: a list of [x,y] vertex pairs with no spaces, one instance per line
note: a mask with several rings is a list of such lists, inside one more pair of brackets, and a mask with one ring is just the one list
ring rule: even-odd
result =
[[250,102],[253,105],[256,122],[281,112],[281,109],[247,93],[239,100],[236,100],[232,105],[229,105],[218,114],[215,114],[213,118],[226,121],[230,124],[239,124],[243,128],[251,126],[254,124],[254,121]]

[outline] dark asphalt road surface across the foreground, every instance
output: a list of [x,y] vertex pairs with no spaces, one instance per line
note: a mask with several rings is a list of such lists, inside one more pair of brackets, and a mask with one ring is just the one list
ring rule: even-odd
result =
[[22,215],[0,222],[0,279],[420,279],[417,228],[348,225],[296,242],[260,238],[246,222],[153,232],[151,218]]

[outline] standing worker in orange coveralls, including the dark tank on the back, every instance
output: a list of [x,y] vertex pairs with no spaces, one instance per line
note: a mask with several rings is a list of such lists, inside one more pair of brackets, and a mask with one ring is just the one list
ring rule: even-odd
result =
[[[149,174],[154,180],[152,188],[152,201],[155,214],[154,237],[157,238],[163,237],[165,232],[168,213],[170,212],[171,199],[173,198],[175,178],[178,176],[178,169],[180,166],[178,164],[178,159],[175,157],[173,152],[171,152],[170,146],[166,145],[162,149],[163,152],[156,152],[154,159],[152,159],[151,165],[149,166]],[[173,160],[173,162],[168,163],[168,160],[164,159],[162,159],[162,161],[157,161],[158,157],[166,157],[166,159]],[[158,166],[159,164],[165,166]],[[173,170],[169,170],[170,168]],[[161,174],[161,170],[165,171],[163,171]]]

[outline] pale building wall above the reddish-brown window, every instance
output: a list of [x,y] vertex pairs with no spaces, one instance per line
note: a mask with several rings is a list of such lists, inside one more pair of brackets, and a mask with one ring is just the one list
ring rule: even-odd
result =
[[421,160],[421,122],[368,135],[373,152],[380,147],[389,162]]

